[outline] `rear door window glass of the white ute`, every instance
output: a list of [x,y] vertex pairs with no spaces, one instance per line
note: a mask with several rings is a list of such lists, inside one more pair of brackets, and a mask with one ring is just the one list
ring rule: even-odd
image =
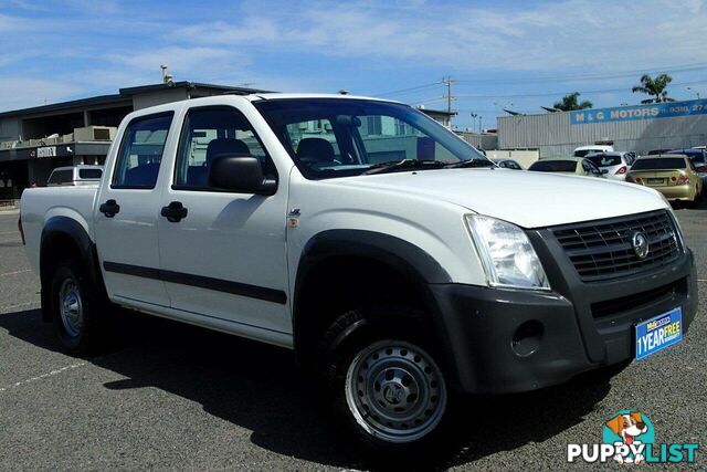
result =
[[130,122],[118,150],[113,188],[155,188],[172,115],[145,116]]

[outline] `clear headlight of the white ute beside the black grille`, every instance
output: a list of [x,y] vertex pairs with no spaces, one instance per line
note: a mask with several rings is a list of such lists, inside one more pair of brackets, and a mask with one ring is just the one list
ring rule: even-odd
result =
[[466,223],[489,285],[550,290],[538,254],[520,228],[481,214],[467,216]]

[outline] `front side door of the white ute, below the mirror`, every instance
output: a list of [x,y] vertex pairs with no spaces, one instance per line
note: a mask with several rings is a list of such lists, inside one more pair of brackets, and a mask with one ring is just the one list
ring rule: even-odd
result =
[[[211,188],[210,167],[228,155],[258,158],[264,174],[278,180],[275,195]],[[171,178],[161,204],[186,209],[183,218],[159,219],[171,307],[189,322],[291,344],[286,176],[277,176],[244,113],[233,106],[189,109]]]

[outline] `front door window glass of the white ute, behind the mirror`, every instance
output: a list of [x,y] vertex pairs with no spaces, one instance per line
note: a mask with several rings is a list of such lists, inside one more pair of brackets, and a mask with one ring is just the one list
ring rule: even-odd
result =
[[179,140],[175,188],[208,190],[210,166],[224,155],[257,157],[265,175],[276,174],[265,148],[241,112],[232,107],[191,109],[184,118]]

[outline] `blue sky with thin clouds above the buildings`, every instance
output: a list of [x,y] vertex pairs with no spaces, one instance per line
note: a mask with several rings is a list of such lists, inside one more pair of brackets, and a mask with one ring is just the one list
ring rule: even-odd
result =
[[563,93],[634,104],[643,72],[707,97],[701,0],[0,0],[0,111],[175,80],[381,95],[495,126]]

